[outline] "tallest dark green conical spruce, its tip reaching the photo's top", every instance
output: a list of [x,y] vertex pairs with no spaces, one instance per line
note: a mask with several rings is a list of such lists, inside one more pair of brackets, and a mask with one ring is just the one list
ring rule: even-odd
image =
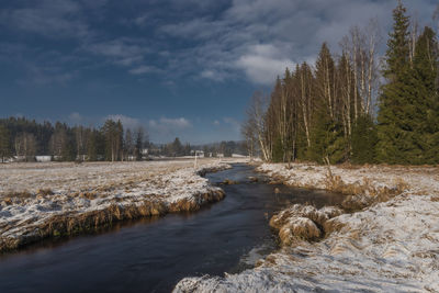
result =
[[409,123],[413,113],[410,98],[410,65],[408,41],[408,16],[401,1],[393,11],[393,31],[390,33],[383,71],[387,83],[382,87],[378,114],[376,156],[380,161],[407,164],[415,155],[416,134]]

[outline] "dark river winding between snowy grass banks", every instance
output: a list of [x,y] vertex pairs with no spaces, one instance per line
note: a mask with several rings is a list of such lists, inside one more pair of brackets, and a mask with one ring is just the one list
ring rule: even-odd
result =
[[268,222],[289,204],[320,207],[342,200],[267,184],[246,165],[206,177],[239,183],[223,185],[226,198],[195,213],[122,223],[0,256],[0,292],[170,292],[184,277],[239,272],[277,249]]

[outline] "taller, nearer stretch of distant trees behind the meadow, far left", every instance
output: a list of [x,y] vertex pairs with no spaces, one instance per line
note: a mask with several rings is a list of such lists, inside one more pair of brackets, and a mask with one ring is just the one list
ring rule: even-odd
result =
[[0,119],[1,161],[12,156],[21,160],[34,160],[35,156],[52,156],[59,161],[140,160],[148,144],[143,127],[124,132],[121,121],[106,120],[95,128],[25,117]]

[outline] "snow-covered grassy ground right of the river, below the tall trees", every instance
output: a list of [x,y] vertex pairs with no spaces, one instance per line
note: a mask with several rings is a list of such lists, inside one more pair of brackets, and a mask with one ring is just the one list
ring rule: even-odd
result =
[[[363,193],[371,205],[324,218],[331,233],[320,241],[288,238],[252,270],[187,278],[177,292],[439,292],[438,168],[331,167],[328,176],[326,167],[292,167],[266,164],[259,170],[296,187]],[[306,210],[313,209],[292,206],[271,224],[291,215],[285,223],[293,232],[299,222],[307,223]]]

